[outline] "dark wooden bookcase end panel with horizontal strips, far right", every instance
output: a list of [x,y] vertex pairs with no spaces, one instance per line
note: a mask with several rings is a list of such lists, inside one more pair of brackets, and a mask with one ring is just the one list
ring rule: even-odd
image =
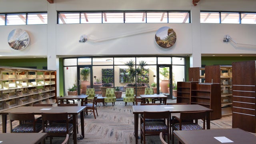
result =
[[232,128],[256,133],[256,61],[233,62]]

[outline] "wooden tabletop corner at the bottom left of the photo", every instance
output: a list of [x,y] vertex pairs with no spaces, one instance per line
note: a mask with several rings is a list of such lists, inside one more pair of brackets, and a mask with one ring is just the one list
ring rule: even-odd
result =
[[39,144],[44,142],[47,133],[2,133],[1,144]]

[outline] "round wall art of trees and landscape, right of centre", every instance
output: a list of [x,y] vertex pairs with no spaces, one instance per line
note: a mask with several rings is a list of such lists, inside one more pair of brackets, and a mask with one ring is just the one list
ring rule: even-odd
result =
[[156,44],[162,48],[170,48],[176,42],[176,33],[168,26],[159,28],[155,35]]

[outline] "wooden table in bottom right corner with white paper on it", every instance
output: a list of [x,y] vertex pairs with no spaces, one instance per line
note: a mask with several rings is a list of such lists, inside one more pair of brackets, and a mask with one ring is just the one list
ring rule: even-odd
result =
[[[212,130],[174,130],[174,136],[182,144],[255,144],[256,136],[240,128]],[[225,136],[233,142],[222,143],[214,137]]]

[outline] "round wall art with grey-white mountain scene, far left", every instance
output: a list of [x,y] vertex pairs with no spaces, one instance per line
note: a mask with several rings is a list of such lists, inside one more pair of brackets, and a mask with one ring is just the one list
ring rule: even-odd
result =
[[23,50],[29,44],[29,35],[25,30],[14,29],[8,35],[8,44],[14,50]]

